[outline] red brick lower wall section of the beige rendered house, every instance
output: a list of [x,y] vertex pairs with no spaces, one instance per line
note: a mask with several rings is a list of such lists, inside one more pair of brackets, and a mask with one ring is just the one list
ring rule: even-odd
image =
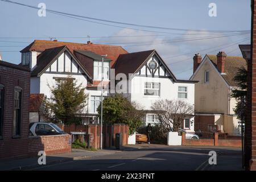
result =
[[214,115],[195,116],[195,131],[208,131],[208,125],[214,125]]

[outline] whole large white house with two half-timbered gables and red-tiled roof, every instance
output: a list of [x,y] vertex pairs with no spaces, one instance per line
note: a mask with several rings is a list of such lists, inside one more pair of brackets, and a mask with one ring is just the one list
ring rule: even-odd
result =
[[[178,80],[155,50],[128,53],[120,46],[35,40],[20,52],[21,64],[31,68],[31,94],[43,93],[49,98],[51,92],[47,85],[52,86],[56,80],[70,75],[86,87],[88,106],[82,114],[84,123],[98,122],[101,55],[108,55],[104,58],[104,96],[112,93],[108,85],[114,84],[117,88],[114,90],[118,90],[119,78],[126,76],[129,84],[126,96],[143,106],[146,125],[157,122],[150,107],[156,100],[184,100],[194,104],[196,81]],[[184,119],[183,128],[193,131],[193,127],[191,115]]]

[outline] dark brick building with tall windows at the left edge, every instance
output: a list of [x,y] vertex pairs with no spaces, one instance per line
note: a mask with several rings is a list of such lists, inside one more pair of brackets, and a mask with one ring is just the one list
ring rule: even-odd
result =
[[30,69],[0,61],[0,159],[28,151]]

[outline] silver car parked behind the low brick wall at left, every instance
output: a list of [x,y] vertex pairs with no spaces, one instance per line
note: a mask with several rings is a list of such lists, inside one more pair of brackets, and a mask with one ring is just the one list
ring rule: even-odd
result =
[[42,136],[42,135],[61,135],[67,134],[61,130],[54,123],[35,122],[30,123],[30,135]]

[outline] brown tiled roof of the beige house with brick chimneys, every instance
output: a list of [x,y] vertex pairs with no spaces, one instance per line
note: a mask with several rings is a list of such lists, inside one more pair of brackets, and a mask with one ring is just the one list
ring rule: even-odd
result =
[[[213,65],[217,68],[217,56],[216,55],[207,55],[210,61],[212,61]],[[237,75],[238,68],[245,67],[246,66],[246,60],[243,59],[242,57],[238,56],[226,56],[226,61],[225,61],[225,74],[220,75],[224,78],[226,83],[229,86],[238,86],[238,83],[234,81],[234,77]]]

